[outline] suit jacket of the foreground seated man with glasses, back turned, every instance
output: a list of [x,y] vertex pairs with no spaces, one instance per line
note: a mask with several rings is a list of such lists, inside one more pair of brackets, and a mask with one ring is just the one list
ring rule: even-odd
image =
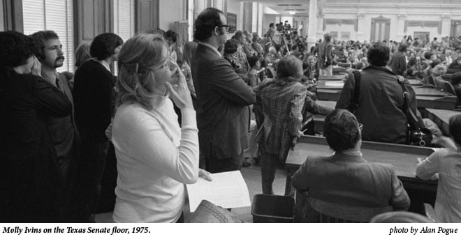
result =
[[390,164],[368,162],[360,155],[309,157],[293,175],[293,186],[330,203],[407,210],[410,199]]

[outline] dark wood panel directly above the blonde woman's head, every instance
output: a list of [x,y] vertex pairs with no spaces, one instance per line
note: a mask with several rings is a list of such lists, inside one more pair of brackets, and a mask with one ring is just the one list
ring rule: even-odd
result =
[[136,1],[136,32],[159,27],[159,0]]

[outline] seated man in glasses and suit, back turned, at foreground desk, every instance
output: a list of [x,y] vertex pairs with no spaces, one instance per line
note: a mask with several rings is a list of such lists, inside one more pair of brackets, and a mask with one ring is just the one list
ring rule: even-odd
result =
[[323,135],[335,153],[308,157],[293,175],[293,187],[307,191],[311,204],[316,199],[346,206],[407,210],[410,199],[393,166],[363,158],[361,128],[351,112],[333,110],[325,119]]

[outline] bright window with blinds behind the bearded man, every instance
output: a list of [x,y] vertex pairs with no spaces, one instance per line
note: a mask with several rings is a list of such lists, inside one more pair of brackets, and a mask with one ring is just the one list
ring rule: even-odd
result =
[[22,0],[24,34],[54,31],[59,36],[66,60],[58,72],[74,69],[72,0]]

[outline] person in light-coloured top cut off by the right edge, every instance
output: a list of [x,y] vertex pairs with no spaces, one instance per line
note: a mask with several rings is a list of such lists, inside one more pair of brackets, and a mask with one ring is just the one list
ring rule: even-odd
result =
[[[450,119],[450,134],[457,148],[441,148],[416,167],[421,179],[439,179],[434,210],[441,222],[461,222],[461,114]],[[439,174],[437,176],[437,174]]]

